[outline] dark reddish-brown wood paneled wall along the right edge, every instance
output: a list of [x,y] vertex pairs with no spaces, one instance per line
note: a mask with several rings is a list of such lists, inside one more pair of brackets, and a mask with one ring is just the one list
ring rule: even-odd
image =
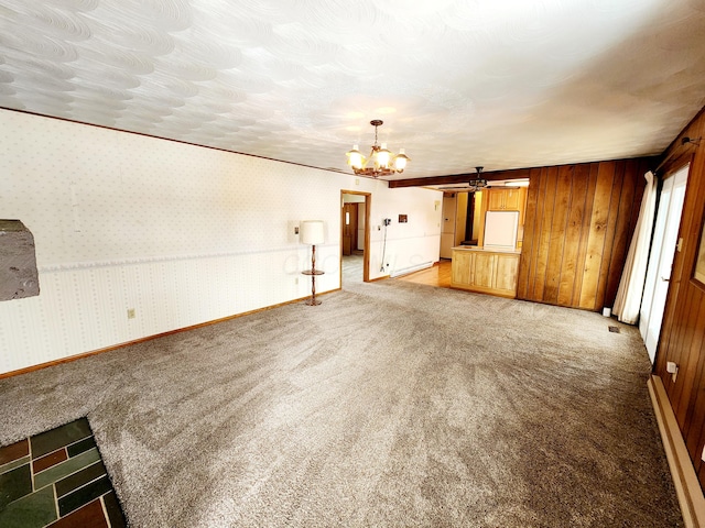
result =
[[[675,413],[685,444],[705,490],[705,286],[693,279],[701,232],[705,218],[705,139],[682,143],[682,138],[705,138],[705,113],[699,114],[679,134],[664,154],[661,175],[668,175],[690,163],[685,202],[679,237],[681,251],[675,252],[659,339],[654,374],[661,376]],[[675,383],[665,364],[679,365]]]

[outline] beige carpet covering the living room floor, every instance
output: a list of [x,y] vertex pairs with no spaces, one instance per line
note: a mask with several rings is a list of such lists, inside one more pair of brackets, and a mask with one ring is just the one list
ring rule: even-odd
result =
[[636,329],[393,279],[322,300],[2,380],[0,443],[87,416],[134,527],[682,526]]

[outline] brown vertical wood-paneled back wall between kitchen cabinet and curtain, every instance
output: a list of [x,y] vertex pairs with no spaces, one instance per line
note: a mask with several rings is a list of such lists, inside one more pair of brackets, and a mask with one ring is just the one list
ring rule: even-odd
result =
[[617,295],[653,158],[529,170],[517,297],[601,311]]

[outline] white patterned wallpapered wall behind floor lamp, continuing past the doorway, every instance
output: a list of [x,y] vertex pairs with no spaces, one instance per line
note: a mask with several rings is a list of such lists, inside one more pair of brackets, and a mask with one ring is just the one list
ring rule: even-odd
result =
[[326,226],[317,292],[338,288],[340,189],[372,194],[372,223],[409,213],[389,228],[390,272],[438,256],[436,191],[67,121],[0,110],[0,174],[41,287],[0,302],[0,373],[305,297],[304,219]]

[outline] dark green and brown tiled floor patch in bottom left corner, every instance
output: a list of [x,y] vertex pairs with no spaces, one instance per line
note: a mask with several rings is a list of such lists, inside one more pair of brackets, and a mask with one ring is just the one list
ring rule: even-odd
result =
[[0,526],[127,526],[87,419],[0,448]]

